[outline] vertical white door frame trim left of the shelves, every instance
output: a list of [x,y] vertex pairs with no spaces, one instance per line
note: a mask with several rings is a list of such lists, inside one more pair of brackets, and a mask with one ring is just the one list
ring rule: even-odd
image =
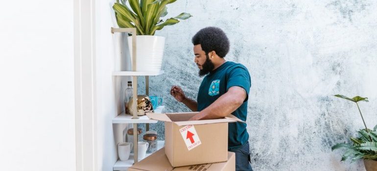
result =
[[73,0],[76,171],[97,170],[95,0]]

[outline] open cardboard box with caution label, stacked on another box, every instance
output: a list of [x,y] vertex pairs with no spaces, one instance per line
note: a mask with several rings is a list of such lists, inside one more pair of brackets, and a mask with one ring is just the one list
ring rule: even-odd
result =
[[188,121],[196,113],[147,113],[150,119],[165,122],[165,154],[173,167],[228,160],[228,123],[243,121],[233,115]]

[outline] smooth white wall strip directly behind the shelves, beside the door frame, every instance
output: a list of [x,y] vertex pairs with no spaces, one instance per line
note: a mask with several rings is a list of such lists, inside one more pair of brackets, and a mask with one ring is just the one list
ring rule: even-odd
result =
[[112,34],[110,31],[111,27],[118,27],[112,9],[114,2],[115,0],[95,1],[97,161],[100,171],[112,171],[118,159],[116,147],[122,141],[122,130],[126,125],[112,124],[112,119],[123,111],[123,91],[127,87],[126,82],[131,79],[112,76],[113,71],[129,67],[125,63],[126,58],[129,58],[129,55],[125,55],[128,53],[125,35]]

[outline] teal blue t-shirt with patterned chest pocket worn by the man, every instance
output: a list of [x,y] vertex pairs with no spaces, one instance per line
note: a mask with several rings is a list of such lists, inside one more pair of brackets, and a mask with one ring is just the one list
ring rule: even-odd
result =
[[[204,77],[198,92],[198,111],[210,106],[232,86],[242,87],[246,91],[245,101],[232,113],[238,119],[246,121],[247,100],[249,97],[251,78],[249,71],[244,65],[234,62],[225,62]],[[248,139],[249,134],[247,133],[245,123],[229,123],[228,150],[240,147],[245,144]]]

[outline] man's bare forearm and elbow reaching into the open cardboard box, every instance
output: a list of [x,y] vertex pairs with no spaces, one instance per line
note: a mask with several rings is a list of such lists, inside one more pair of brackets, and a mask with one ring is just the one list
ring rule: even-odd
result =
[[240,107],[246,97],[247,94],[245,89],[239,86],[232,86],[209,107],[203,109],[189,120],[193,121],[223,118]]

